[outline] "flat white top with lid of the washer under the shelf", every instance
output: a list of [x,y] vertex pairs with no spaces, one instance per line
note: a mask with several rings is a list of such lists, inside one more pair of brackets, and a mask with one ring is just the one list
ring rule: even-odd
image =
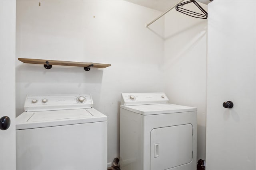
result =
[[23,112],[16,117],[16,130],[107,121],[94,108]]

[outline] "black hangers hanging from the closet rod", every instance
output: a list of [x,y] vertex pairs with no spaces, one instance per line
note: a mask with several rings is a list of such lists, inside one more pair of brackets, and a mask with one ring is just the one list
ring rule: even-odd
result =
[[[201,14],[198,12],[190,11],[185,8],[182,8],[184,5],[194,3],[200,10]],[[188,16],[192,16],[194,18],[201,18],[201,19],[207,19],[208,13],[195,1],[195,0],[189,0],[187,2],[182,2],[176,6],[176,11],[181,12],[183,14],[186,14]]]

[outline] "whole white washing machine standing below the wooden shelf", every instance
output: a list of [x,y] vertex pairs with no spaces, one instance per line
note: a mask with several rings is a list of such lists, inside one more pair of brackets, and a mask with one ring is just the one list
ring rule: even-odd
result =
[[106,170],[107,117],[90,94],[27,96],[16,118],[17,170]]

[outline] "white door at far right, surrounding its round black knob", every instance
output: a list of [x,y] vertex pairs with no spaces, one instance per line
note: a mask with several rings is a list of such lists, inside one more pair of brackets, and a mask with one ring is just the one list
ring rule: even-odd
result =
[[255,8],[252,0],[208,5],[207,170],[256,168]]

